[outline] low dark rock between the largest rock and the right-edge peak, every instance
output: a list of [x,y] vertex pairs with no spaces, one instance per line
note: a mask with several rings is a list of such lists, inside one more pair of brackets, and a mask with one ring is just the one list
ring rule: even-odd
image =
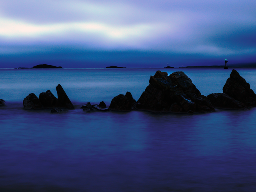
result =
[[223,108],[223,109],[237,109],[237,110],[244,110],[246,106],[235,100],[234,98],[228,96],[225,93],[212,93],[207,96],[208,100],[212,103],[212,105],[216,108]]

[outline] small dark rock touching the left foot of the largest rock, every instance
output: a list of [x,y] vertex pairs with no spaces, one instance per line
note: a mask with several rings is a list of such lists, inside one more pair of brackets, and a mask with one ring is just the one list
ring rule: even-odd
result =
[[130,111],[136,105],[136,100],[132,98],[132,94],[130,92],[126,92],[125,96],[120,94],[115,96],[109,106],[110,110],[117,111]]

